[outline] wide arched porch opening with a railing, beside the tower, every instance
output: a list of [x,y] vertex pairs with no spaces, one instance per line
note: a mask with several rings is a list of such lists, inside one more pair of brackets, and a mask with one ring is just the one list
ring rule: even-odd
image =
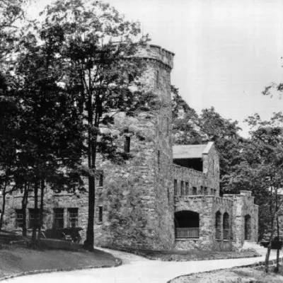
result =
[[199,238],[200,214],[187,210],[175,212],[175,237]]

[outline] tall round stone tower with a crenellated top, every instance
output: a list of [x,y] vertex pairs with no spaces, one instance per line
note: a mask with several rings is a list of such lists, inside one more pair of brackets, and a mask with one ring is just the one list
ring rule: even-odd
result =
[[[123,166],[109,161],[100,163],[105,180],[96,195],[97,215],[103,209],[103,221],[95,224],[95,241],[100,246],[173,248],[173,56],[156,45],[149,45],[137,54],[146,61],[141,81],[158,95],[161,108],[136,118],[120,115],[116,121],[117,127],[124,127],[129,133],[132,158]],[[119,146],[122,143],[121,140]]]

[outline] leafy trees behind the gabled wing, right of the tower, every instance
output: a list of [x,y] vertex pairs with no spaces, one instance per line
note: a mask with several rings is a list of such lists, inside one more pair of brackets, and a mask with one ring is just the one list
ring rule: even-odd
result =
[[245,139],[238,131],[237,121],[221,117],[214,108],[202,110],[200,115],[190,108],[172,86],[173,93],[173,135],[175,144],[203,144],[214,141],[219,152],[220,191],[231,192],[227,186],[233,166],[240,162],[239,153]]

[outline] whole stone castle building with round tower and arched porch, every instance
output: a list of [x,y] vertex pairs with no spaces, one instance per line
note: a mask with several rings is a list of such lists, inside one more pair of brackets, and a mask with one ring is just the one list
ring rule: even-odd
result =
[[[258,239],[258,206],[248,191],[219,197],[219,156],[212,142],[173,146],[172,52],[150,45],[142,80],[161,109],[138,117],[120,115],[124,137],[117,146],[132,155],[124,165],[100,161],[96,180],[95,243],[158,250],[232,250]],[[135,133],[135,134],[132,134]],[[32,197],[30,197],[32,199]],[[1,199],[0,199],[1,204]],[[6,201],[4,228],[23,225],[21,194]],[[28,227],[35,217],[28,203]],[[81,226],[86,233],[87,195],[45,193],[44,228]],[[82,235],[83,236],[83,235]]]

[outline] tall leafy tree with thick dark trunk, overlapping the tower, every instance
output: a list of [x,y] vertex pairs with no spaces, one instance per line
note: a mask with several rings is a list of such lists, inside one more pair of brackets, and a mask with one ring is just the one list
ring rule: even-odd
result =
[[126,21],[100,1],[56,1],[45,9],[41,36],[56,47],[62,82],[84,121],[88,168],[88,228],[85,248],[93,250],[95,175],[98,154],[115,162],[129,158],[115,144],[115,116],[149,111],[154,95],[139,82],[144,62],[137,57],[148,37],[139,23]]

